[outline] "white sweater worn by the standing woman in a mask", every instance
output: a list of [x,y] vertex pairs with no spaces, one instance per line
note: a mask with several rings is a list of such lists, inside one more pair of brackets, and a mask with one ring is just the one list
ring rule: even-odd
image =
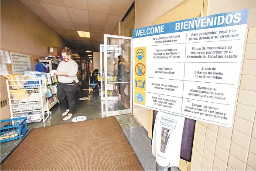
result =
[[61,63],[58,65],[57,71],[68,73],[69,77],[66,76],[58,76],[58,82],[60,83],[72,83],[74,80],[76,83],[79,82],[77,79],[77,70],[78,70],[78,64],[75,62],[75,60],[70,60],[68,62],[61,61]]

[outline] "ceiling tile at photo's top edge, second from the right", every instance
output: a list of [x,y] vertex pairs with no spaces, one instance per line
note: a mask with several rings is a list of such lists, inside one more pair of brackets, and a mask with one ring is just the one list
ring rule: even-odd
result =
[[89,11],[109,13],[113,0],[89,0]]

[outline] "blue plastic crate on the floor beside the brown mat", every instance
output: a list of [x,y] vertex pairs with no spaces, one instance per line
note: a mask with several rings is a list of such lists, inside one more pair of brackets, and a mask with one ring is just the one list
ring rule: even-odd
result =
[[1,143],[22,138],[27,132],[27,117],[0,121]]

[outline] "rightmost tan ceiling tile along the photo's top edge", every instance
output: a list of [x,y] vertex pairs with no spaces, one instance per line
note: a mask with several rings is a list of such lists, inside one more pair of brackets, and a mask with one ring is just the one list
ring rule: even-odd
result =
[[117,15],[123,17],[129,10],[134,0],[115,0],[109,10],[109,14]]

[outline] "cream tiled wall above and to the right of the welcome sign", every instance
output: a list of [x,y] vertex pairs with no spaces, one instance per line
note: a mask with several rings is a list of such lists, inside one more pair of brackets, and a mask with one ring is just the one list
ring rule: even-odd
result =
[[208,15],[250,8],[232,127],[197,122],[192,169],[256,170],[256,0],[209,0]]

